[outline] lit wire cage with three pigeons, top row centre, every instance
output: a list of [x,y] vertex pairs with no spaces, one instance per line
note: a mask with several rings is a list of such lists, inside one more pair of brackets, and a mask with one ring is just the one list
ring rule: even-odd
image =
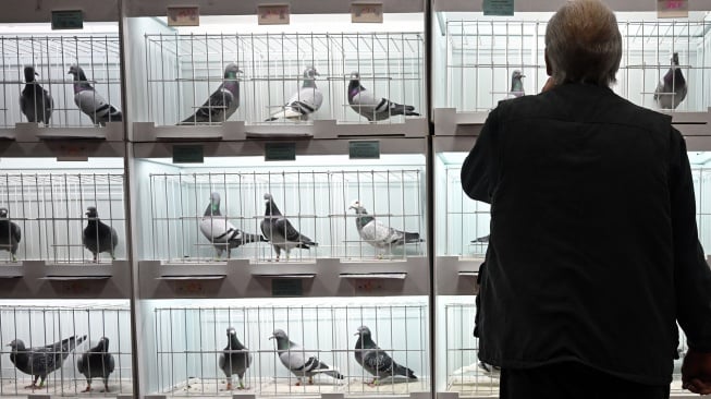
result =
[[[316,119],[402,123],[402,107],[376,118],[372,101],[350,105],[352,72],[359,72],[360,84],[378,102],[387,98],[412,106],[405,113],[414,117],[425,110],[421,33],[147,34],[145,47],[147,112],[139,111],[137,118],[158,125]],[[242,73],[225,80],[230,63]],[[315,81],[304,78],[310,66],[318,73]],[[208,104],[213,116],[189,119],[221,84],[234,81],[236,111],[221,112],[230,107],[225,95],[218,94],[219,100]],[[317,89],[301,89],[306,82]],[[301,102],[299,112],[284,107],[292,101]]]

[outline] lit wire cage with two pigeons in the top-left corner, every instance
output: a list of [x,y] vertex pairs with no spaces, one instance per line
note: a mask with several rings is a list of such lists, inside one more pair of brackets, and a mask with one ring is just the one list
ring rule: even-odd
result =
[[[84,102],[101,100],[121,109],[120,45],[118,33],[71,34],[56,33],[11,34],[0,36],[0,126],[14,128],[15,123],[37,122],[50,128],[93,128],[99,110],[83,112],[75,102],[73,76],[70,66],[76,64],[84,71],[94,92]],[[25,68],[34,66],[35,82],[26,84]],[[39,87],[36,87],[39,86]],[[41,107],[41,88],[53,101],[51,111]],[[32,117],[23,112],[21,97],[26,98]]]

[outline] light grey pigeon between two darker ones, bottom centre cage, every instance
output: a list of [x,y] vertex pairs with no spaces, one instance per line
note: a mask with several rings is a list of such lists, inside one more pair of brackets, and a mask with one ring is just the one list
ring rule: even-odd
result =
[[289,336],[282,329],[275,329],[273,335],[269,339],[277,340],[277,353],[279,353],[279,360],[289,368],[296,377],[296,385],[302,384],[303,377],[308,377],[308,384],[314,384],[314,375],[323,373],[328,374],[333,378],[343,379],[343,374],[339,373],[338,370],[331,368],[328,364],[318,360],[316,354],[308,353],[304,348],[299,347],[297,343],[291,341]]

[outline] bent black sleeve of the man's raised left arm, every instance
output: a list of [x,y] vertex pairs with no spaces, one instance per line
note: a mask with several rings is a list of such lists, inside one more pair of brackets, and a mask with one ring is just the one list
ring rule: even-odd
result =
[[495,185],[498,157],[497,142],[499,134],[499,107],[487,118],[474,148],[462,165],[462,189],[476,201],[491,204],[492,191]]

